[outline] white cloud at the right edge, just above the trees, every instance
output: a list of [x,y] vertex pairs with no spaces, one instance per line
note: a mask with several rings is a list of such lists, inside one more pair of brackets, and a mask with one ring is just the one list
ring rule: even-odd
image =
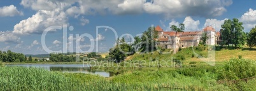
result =
[[243,22],[245,31],[250,32],[250,30],[256,25],[256,10],[252,10],[250,8],[249,11],[246,11],[239,20]]

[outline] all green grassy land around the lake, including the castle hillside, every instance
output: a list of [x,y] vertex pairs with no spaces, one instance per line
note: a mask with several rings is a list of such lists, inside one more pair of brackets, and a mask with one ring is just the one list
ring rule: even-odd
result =
[[[162,51],[170,53],[134,54],[118,64],[107,61],[85,62],[85,64],[95,64],[92,70],[115,73],[109,78],[93,74],[46,71],[32,67],[8,67],[4,66],[6,63],[0,63],[0,89],[256,90],[256,51],[253,48],[218,48],[215,51],[215,66],[210,66],[195,55],[193,56],[192,48],[183,48],[175,54],[171,53],[171,50]],[[208,49],[196,48],[194,51],[207,57]],[[172,60],[167,61],[168,67],[166,67],[166,62],[161,60],[169,59]],[[81,63],[52,62],[50,64]],[[40,64],[49,64],[49,62]]]

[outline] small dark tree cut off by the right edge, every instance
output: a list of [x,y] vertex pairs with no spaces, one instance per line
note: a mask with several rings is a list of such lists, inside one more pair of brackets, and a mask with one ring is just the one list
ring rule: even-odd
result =
[[250,48],[256,45],[256,25],[248,34],[247,45],[250,46]]

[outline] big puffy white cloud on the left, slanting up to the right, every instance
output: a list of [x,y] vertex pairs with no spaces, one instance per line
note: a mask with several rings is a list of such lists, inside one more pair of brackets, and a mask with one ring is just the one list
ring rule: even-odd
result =
[[[41,34],[47,27],[67,23],[66,14],[59,9],[53,11],[39,10],[35,15],[14,26],[15,34]],[[55,31],[55,30],[53,30]]]

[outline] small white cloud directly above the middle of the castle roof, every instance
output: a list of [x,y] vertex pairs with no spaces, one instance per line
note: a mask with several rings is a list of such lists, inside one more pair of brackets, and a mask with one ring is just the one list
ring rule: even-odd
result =
[[193,20],[191,17],[186,17],[183,24],[185,25],[185,31],[199,31],[199,20]]

